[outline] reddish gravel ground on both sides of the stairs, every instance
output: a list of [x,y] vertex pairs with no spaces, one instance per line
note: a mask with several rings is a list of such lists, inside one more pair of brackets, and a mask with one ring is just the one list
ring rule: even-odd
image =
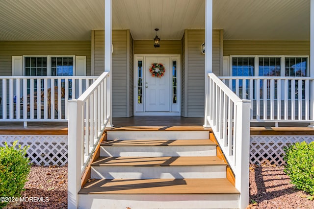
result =
[[[48,202],[22,202],[15,209],[66,209],[68,167],[32,166],[23,197],[49,198]],[[314,209],[308,194],[293,188],[283,166],[250,167],[250,199],[256,203],[248,209]]]

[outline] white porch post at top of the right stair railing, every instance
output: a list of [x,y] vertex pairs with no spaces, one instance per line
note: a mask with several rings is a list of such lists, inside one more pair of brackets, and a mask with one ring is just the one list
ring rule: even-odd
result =
[[207,121],[209,113],[209,77],[212,72],[212,0],[205,1],[205,117],[204,127],[210,127]]

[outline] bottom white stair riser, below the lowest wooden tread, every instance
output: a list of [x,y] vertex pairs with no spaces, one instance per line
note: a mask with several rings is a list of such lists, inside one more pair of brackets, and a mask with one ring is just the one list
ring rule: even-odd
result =
[[78,195],[79,209],[234,209],[238,194]]

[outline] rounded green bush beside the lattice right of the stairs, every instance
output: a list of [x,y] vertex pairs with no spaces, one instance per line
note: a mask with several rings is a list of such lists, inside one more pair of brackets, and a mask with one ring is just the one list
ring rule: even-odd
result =
[[285,147],[285,173],[296,188],[314,195],[314,141],[295,143]]

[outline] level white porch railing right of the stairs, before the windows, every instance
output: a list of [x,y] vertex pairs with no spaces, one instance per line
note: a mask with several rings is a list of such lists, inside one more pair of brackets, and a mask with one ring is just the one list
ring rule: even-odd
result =
[[270,121],[276,125],[278,122],[313,122],[313,78],[219,78],[237,96],[251,100],[251,121]]

